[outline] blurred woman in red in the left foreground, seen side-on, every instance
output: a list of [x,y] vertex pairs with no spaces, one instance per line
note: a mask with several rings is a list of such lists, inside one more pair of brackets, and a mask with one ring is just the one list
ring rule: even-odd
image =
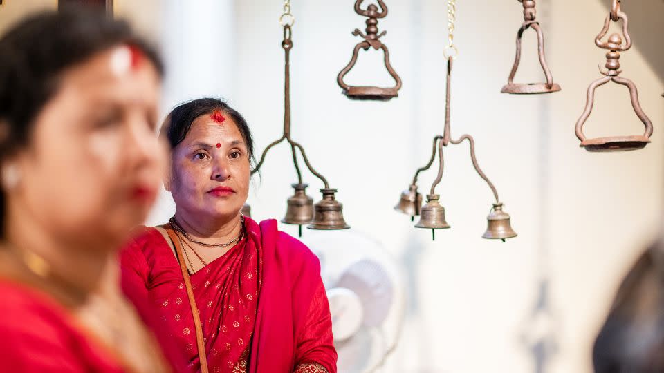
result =
[[117,265],[164,169],[160,81],[104,15],[44,13],[0,38],[0,372],[171,371]]

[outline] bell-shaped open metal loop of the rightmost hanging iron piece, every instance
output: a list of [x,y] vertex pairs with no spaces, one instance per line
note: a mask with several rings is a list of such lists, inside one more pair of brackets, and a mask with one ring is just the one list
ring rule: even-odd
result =
[[[612,136],[612,137],[598,137],[594,139],[587,139],[583,133],[583,126],[590,117],[595,104],[595,90],[613,80],[617,84],[627,86],[629,88],[629,96],[631,98],[631,106],[634,107],[636,116],[643,122],[645,132],[643,135],[634,136]],[[580,146],[587,151],[629,151],[636,149],[643,149],[649,142],[652,135],[652,122],[645,115],[643,109],[638,102],[638,91],[636,84],[629,79],[618,76],[605,76],[600,77],[595,82],[592,82],[588,87],[586,108],[584,109],[581,117],[576,122],[575,127],[576,137],[581,140]]]

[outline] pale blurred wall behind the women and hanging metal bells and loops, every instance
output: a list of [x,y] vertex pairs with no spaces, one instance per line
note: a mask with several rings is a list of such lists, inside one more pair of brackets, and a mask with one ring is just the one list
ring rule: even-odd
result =
[[[500,93],[514,61],[521,4],[458,1],[452,137],[474,136],[479,164],[519,236],[507,242],[481,238],[492,195],[464,144],[445,150],[437,191],[452,229],[438,231],[432,242],[430,231],[414,229],[392,208],[428,160],[432,137],[443,131],[447,3],[386,1],[389,15],[378,28],[387,30],[381,40],[403,79],[399,97],[389,102],[351,101],[336,84],[360,41],[351,31],[365,28],[354,1],[291,3],[293,138],[339,189],[352,226],[343,234],[378,242],[396,260],[398,286],[405,290],[398,344],[380,372],[591,372],[592,343],[616,287],[661,228],[664,2],[623,1],[634,47],[621,55],[622,76],[638,86],[654,124],[652,144],[625,153],[588,153],[579,147],[574,125],[587,86],[605,63],[594,39],[610,1],[537,1],[548,65],[562,91],[534,96]],[[279,138],[282,1],[114,3],[116,17],[129,19],[163,51],[164,115],[187,99],[223,97],[248,119],[257,151]],[[0,33],[30,12],[56,7],[55,0],[3,0]],[[535,32],[528,30],[515,81],[543,79]],[[392,84],[374,50],[360,53],[347,82]],[[585,129],[595,137],[640,134],[643,126],[627,89],[607,84],[597,91]],[[428,190],[435,173],[421,175],[420,191]],[[322,184],[309,174],[305,180],[308,194],[319,200]],[[253,182],[252,216],[281,219],[296,181],[288,146],[277,146]],[[163,193],[147,224],[163,223],[172,212]],[[297,235],[297,227],[281,229]],[[338,234],[305,230],[304,240],[333,240]]]

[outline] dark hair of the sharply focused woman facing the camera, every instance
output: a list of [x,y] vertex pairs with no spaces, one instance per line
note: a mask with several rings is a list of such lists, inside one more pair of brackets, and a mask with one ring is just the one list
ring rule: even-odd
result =
[[230,116],[233,122],[237,124],[237,128],[247,144],[249,160],[252,162],[254,159],[254,140],[251,137],[249,125],[237,110],[228,106],[222,99],[206,97],[179,104],[166,117],[164,126],[161,128],[161,135],[168,139],[171,149],[174,149],[182,140],[185,140],[196,118],[201,115],[212,114],[216,110]]

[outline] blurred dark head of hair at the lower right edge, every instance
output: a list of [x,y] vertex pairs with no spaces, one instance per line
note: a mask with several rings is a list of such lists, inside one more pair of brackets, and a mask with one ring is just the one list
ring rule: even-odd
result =
[[623,280],[593,347],[596,373],[664,372],[664,242]]

